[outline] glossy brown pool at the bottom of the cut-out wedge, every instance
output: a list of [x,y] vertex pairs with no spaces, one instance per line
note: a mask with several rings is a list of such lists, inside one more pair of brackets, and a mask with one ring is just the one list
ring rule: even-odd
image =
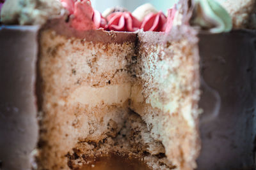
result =
[[138,159],[109,155],[96,158],[92,164],[87,164],[79,170],[150,170],[147,164]]

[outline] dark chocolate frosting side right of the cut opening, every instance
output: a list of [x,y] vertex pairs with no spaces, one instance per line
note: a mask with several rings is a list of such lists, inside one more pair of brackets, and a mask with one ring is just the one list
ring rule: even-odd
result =
[[[202,150],[198,169],[255,166],[256,31],[199,34]],[[214,112],[215,111],[215,112]]]

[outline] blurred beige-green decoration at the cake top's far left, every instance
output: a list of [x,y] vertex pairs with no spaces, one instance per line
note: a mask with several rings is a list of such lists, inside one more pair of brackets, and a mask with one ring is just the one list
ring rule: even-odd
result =
[[[3,4],[3,0],[1,0]],[[49,18],[61,15],[59,0],[8,0],[1,9],[4,24],[42,25]]]

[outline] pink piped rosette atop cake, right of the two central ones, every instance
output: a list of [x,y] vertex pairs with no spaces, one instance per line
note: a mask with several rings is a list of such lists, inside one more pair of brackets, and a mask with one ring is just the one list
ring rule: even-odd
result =
[[141,24],[144,31],[165,31],[167,18],[162,11],[149,13]]

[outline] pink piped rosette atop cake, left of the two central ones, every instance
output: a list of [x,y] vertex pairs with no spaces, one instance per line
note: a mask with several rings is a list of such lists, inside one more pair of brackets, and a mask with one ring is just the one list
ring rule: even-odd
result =
[[113,31],[137,31],[141,22],[132,16],[131,12],[115,12],[107,17],[108,29]]

